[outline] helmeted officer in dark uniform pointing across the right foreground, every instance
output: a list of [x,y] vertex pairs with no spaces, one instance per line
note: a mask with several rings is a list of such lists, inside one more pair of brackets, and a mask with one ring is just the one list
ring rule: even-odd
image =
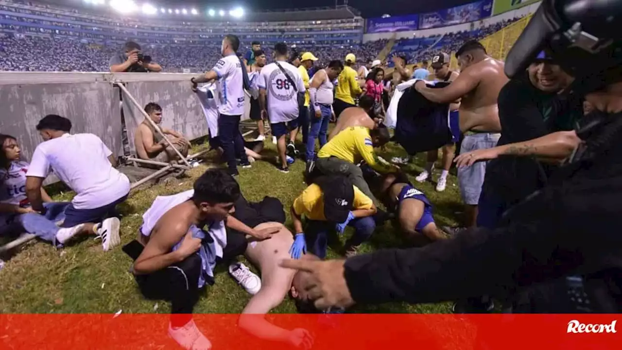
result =
[[[521,299],[516,312],[622,311],[622,0],[544,0],[506,59],[518,76],[543,47],[594,106],[569,162],[494,229],[474,228],[419,249],[285,267],[311,272],[318,308],[431,303],[477,295]],[[526,295],[525,291],[529,290]],[[517,306],[517,303],[513,303]]]

